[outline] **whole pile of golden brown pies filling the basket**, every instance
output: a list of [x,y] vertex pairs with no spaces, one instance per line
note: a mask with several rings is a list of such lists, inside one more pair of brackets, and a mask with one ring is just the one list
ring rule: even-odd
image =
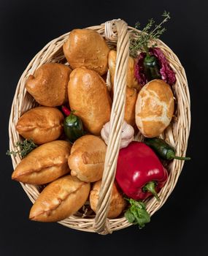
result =
[[[26,90],[39,103],[16,124],[18,133],[37,148],[23,158],[12,179],[45,185],[29,218],[57,222],[78,211],[86,202],[96,212],[107,145],[101,129],[109,121],[115,75],[116,50],[110,50],[92,29],[74,29],[63,44],[66,64],[46,63],[26,80]],[[145,137],[160,135],[174,113],[172,89],[163,80],[140,86],[134,77],[135,59],[129,56],[125,121]],[[107,89],[107,71],[112,91]],[[63,137],[61,105],[69,105],[82,120],[85,135],[73,144]],[[117,184],[112,189],[109,218],[119,217],[126,201]]]

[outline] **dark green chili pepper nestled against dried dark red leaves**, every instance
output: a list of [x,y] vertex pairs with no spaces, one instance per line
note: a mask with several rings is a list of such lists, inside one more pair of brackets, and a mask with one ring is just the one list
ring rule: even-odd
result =
[[158,59],[149,53],[149,48],[145,47],[146,56],[143,62],[145,77],[148,81],[154,79],[161,79],[160,67],[158,64]]

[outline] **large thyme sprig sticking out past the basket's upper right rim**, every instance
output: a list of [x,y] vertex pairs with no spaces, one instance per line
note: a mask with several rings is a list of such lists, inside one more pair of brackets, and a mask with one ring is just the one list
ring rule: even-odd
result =
[[[166,28],[163,28],[163,24],[166,23],[171,17],[169,12],[166,11],[163,12],[162,17],[163,20],[161,21],[161,23],[155,24],[155,20],[151,18],[145,28],[142,29],[142,31],[134,31],[134,36],[131,38],[130,43],[130,54],[132,57],[135,58],[138,51],[146,52],[148,43],[154,39],[158,39],[166,31]],[[135,28],[140,28],[139,22],[136,23]],[[156,43],[154,45],[151,45],[151,47],[155,46],[157,46]]]

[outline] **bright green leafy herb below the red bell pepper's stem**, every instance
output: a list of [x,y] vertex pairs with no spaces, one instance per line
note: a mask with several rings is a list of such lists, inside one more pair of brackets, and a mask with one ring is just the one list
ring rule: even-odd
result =
[[130,223],[139,225],[139,228],[145,227],[145,224],[150,222],[150,214],[146,210],[145,203],[134,199],[128,200],[131,204],[130,208],[125,213],[125,217]]

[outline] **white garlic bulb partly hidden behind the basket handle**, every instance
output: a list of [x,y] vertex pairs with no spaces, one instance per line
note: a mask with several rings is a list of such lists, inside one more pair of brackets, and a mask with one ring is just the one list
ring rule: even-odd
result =
[[[101,138],[106,144],[108,144],[109,138],[109,122],[104,124],[104,127],[101,129]],[[120,148],[126,148],[129,143],[134,139],[134,128],[127,124],[126,121],[123,121],[122,134],[120,140]]]

